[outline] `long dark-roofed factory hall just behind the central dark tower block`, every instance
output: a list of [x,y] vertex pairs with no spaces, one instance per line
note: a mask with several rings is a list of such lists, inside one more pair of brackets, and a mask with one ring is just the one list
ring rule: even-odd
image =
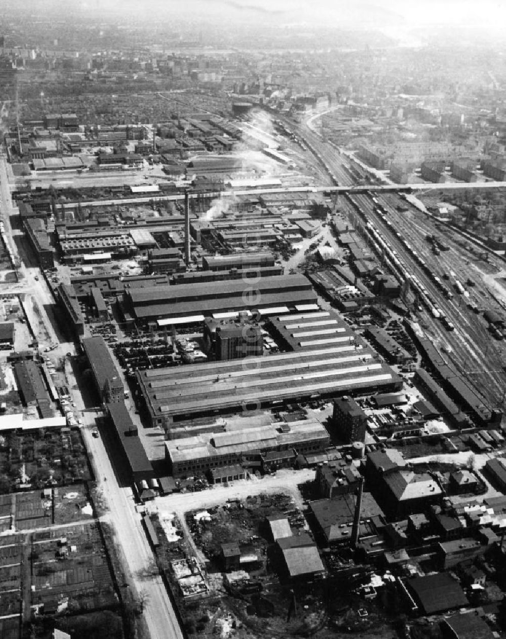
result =
[[198,314],[314,304],[317,296],[303,275],[273,275],[249,284],[242,280],[190,286],[132,288],[123,296],[125,319],[140,323]]

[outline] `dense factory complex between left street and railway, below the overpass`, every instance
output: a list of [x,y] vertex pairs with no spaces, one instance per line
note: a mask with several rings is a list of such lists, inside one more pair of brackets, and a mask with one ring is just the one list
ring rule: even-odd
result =
[[[360,457],[390,439],[427,435],[434,419],[457,432],[500,422],[501,412],[413,329],[403,273],[380,268],[382,253],[328,194],[263,190],[230,205],[190,190],[178,192],[177,212],[151,216],[139,211],[155,208],[152,189],[104,187],[102,197],[127,196],[128,206],[118,213],[95,199],[87,220],[77,215],[84,204],[62,197],[56,210],[73,211],[73,220],[56,222],[56,250],[47,242],[54,203],[42,191],[16,194],[133,481],[161,465],[173,477],[208,478],[217,469],[293,466],[336,444]],[[174,192],[157,185],[157,197]],[[213,206],[214,217],[206,213]],[[326,226],[328,250],[310,243]],[[310,268],[286,268],[304,238]],[[67,281],[52,275],[57,263]],[[413,399],[406,373],[417,385]],[[127,424],[114,404],[129,401],[138,417]],[[154,458],[150,429],[164,435]],[[482,445],[479,435],[472,441]]]

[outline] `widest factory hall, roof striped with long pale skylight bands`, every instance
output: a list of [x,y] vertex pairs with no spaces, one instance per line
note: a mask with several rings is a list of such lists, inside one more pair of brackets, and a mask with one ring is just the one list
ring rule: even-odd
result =
[[244,360],[137,371],[153,426],[197,415],[254,410],[276,402],[398,389],[401,380],[374,351],[342,344]]

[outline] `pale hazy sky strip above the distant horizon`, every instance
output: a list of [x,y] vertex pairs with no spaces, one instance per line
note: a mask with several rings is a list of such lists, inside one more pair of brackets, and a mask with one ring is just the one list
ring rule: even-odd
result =
[[[506,1],[484,0],[0,0],[3,22],[9,12],[73,20],[88,15],[95,19],[138,19],[142,22],[208,17],[245,24],[268,26],[325,26],[343,29],[419,29],[424,26],[454,26],[473,29],[502,29]],[[266,20],[268,22],[266,22]]]

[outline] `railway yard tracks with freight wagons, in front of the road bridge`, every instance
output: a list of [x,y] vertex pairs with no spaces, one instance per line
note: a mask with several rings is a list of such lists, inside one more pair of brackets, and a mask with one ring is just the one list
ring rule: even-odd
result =
[[[358,223],[364,235],[372,247],[379,248],[379,256],[384,254],[385,260],[392,258],[385,247],[378,244],[378,235],[371,235],[374,229],[367,228],[367,224],[374,224],[379,237],[383,237],[402,261],[404,277],[407,273],[413,281],[411,294],[417,297],[418,309],[423,309],[419,315],[427,335],[436,347],[445,344],[451,347],[445,349],[450,352],[443,353],[444,358],[455,364],[489,402],[496,403],[500,398],[503,401],[506,376],[502,335],[500,339],[494,337],[483,317],[484,311],[502,312],[505,308],[504,300],[486,281],[487,276],[502,271],[503,259],[487,252],[486,259],[477,260],[477,253],[482,251],[453,229],[406,205],[400,196],[355,195],[350,196],[349,202],[362,222]],[[402,208],[402,212],[397,207]],[[434,254],[433,245],[427,241],[431,236],[439,236],[448,250]],[[394,264],[394,270],[399,270],[399,266]],[[399,275],[402,270],[398,271]],[[470,279],[473,286],[464,288],[461,282]],[[448,330],[448,322],[453,330]]]

